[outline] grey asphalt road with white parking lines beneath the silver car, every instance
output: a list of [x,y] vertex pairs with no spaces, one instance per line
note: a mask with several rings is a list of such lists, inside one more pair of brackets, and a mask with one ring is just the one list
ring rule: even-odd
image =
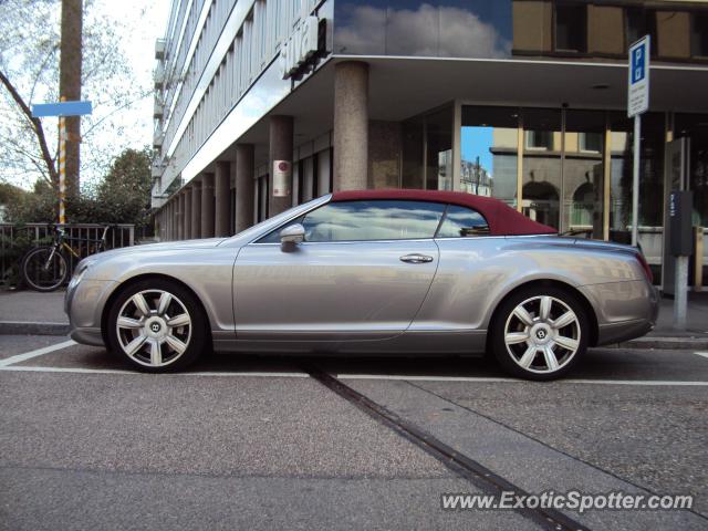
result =
[[694,496],[564,511],[587,529],[708,529],[708,357],[690,351],[594,350],[537,384],[477,358],[215,354],[146,375],[65,343],[0,335],[0,529],[553,529],[444,511],[442,493],[485,483],[312,367],[529,493]]

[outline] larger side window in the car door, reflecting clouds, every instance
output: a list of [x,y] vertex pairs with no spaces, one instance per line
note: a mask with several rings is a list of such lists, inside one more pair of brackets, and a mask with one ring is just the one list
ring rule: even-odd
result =
[[445,205],[427,201],[330,202],[305,215],[305,241],[409,240],[433,238]]

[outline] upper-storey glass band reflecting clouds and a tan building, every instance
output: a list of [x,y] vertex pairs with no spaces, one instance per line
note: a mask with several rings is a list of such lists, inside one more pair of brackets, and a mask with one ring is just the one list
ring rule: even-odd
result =
[[[708,7],[652,0],[337,0],[335,54],[626,58],[652,35],[658,59],[705,58]],[[657,7],[658,6],[658,7]],[[690,35],[686,46],[677,45]],[[686,41],[687,42],[687,41]]]

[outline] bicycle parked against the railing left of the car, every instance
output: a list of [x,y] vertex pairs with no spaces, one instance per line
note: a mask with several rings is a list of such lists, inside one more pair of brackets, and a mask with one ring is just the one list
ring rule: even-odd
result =
[[[81,241],[83,243],[94,243],[95,252],[106,250],[106,235],[111,225],[103,228],[101,239],[70,238],[65,236],[63,227],[54,227],[54,241],[50,246],[37,247],[28,251],[22,258],[20,272],[25,284],[34,291],[50,292],[58,290],[69,278],[70,253],[74,258],[81,258],[81,248],[74,249],[67,241]],[[88,247],[88,246],[87,246]],[[88,251],[91,248],[88,247]],[[91,252],[88,252],[91,253]]]

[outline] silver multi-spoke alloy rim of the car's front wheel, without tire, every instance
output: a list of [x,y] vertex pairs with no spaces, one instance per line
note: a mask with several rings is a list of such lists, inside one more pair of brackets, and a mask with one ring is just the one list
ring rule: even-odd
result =
[[147,367],[176,362],[191,337],[191,319],[185,304],[164,290],[145,290],[131,296],[116,320],[123,352]]

